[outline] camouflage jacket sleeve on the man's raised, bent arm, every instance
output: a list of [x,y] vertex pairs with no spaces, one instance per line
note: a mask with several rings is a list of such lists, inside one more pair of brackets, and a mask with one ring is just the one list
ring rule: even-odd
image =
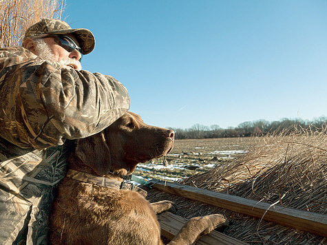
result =
[[101,131],[129,109],[111,76],[43,61],[23,47],[0,49],[0,136],[44,149]]

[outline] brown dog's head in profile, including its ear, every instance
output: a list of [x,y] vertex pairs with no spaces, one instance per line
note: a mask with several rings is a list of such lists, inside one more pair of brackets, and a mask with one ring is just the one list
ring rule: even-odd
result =
[[138,163],[165,156],[173,149],[174,136],[171,129],[146,125],[127,112],[100,133],[79,139],[75,153],[98,175],[127,175]]

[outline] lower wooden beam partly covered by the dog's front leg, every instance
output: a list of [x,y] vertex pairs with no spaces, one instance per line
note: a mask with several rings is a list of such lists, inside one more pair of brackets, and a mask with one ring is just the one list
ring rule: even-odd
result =
[[[180,231],[182,226],[187,223],[187,219],[174,215],[173,213],[165,212],[158,215],[158,220],[161,228],[161,235],[168,239],[173,239]],[[224,235],[218,231],[211,231],[211,233],[200,237],[196,242],[198,245],[245,245],[246,243]]]

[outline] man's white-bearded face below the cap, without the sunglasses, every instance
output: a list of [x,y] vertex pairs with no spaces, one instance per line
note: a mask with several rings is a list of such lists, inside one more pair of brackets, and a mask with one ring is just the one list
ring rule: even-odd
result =
[[[78,41],[72,34],[67,34],[66,36],[69,36],[74,41],[74,43],[76,43],[76,45],[79,45]],[[68,52],[65,50],[65,48],[61,47],[61,45],[54,41],[54,37],[36,39],[34,40],[34,43],[34,50],[30,50],[34,52],[34,54],[45,60],[56,61],[62,65],[67,65],[67,67],[81,70],[81,63],[79,62],[81,59],[81,53],[77,50]]]

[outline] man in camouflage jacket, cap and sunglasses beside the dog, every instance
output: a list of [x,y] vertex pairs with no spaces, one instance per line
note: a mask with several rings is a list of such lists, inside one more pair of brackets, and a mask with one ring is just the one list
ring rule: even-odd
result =
[[94,45],[89,30],[42,19],[28,28],[23,47],[0,49],[0,244],[46,244],[72,140],[129,109],[123,85],[81,70]]

